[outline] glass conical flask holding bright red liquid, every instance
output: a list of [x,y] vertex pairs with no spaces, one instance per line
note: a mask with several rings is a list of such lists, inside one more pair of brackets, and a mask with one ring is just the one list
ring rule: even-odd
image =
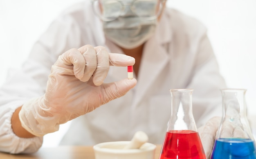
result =
[[159,159],[206,159],[192,113],[193,89],[171,89],[171,118]]

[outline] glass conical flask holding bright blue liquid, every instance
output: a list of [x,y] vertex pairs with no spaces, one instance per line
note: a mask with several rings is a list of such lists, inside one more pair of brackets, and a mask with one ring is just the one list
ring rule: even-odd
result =
[[211,159],[256,159],[255,141],[246,115],[246,89],[221,89],[222,120]]

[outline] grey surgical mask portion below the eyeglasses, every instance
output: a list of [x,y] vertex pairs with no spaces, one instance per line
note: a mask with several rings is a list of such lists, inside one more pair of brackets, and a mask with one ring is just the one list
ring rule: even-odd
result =
[[118,46],[132,49],[142,45],[153,35],[156,24],[156,19],[144,20],[135,15],[130,6],[126,6],[117,19],[103,22],[103,30],[106,37]]

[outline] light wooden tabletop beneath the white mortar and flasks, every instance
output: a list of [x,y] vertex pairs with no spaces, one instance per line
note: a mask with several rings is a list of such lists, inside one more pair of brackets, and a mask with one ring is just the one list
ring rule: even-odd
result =
[[[155,159],[159,158],[160,151],[161,145],[157,145]],[[94,151],[92,146],[44,147],[29,155],[11,155],[0,152],[0,159],[94,159]]]

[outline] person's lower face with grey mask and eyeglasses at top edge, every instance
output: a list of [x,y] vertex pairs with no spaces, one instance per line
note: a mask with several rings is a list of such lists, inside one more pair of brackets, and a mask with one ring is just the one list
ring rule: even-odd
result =
[[162,7],[158,0],[97,2],[100,2],[98,15],[103,20],[106,37],[126,49],[136,48],[150,38],[156,28],[159,6]]

